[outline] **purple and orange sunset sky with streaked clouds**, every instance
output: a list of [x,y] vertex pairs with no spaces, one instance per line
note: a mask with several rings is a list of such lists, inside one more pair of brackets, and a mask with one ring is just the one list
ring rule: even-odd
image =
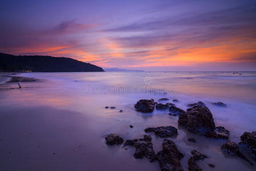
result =
[[256,71],[256,1],[1,1],[0,52],[103,68]]

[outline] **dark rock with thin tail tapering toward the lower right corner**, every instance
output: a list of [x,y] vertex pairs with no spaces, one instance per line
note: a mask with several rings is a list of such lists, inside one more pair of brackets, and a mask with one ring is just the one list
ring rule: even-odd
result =
[[225,144],[221,146],[221,150],[227,154],[230,154],[231,156],[237,155],[238,157],[253,165],[253,163],[240,152],[237,143],[234,143],[233,141],[227,141]]

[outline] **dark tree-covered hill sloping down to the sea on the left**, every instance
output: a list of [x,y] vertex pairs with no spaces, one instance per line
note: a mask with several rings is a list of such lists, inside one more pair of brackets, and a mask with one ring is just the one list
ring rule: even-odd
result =
[[14,56],[0,53],[0,71],[104,72],[103,68],[79,60],[52,56]]

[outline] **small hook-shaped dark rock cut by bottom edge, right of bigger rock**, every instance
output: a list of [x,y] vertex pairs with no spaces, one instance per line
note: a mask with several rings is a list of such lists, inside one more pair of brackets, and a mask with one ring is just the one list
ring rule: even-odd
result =
[[205,158],[208,158],[204,154],[198,152],[197,150],[191,151],[192,157],[189,158],[188,165],[189,165],[189,171],[199,171],[202,170],[200,166],[197,165],[197,160],[204,160]]

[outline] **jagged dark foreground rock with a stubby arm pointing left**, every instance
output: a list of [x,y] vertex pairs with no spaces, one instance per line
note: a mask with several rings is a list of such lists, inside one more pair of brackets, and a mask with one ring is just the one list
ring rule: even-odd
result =
[[133,156],[135,158],[146,157],[149,161],[153,162],[156,160],[156,154],[153,150],[152,138],[149,135],[144,135],[143,139],[134,139],[125,141],[124,146],[133,146],[136,148]]

